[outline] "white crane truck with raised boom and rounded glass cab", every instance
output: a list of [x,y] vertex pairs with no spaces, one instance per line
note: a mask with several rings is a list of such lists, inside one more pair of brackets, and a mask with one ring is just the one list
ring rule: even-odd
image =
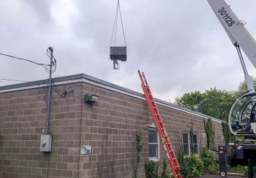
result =
[[224,0],[207,1],[236,47],[248,87],[248,91],[232,103],[228,112],[228,129],[241,139],[218,147],[220,177],[227,177],[227,163],[230,166],[248,165],[248,177],[256,177],[256,144],[253,144],[256,141],[256,92],[241,53],[242,49],[256,68],[256,42],[244,27],[246,22],[239,20]]

